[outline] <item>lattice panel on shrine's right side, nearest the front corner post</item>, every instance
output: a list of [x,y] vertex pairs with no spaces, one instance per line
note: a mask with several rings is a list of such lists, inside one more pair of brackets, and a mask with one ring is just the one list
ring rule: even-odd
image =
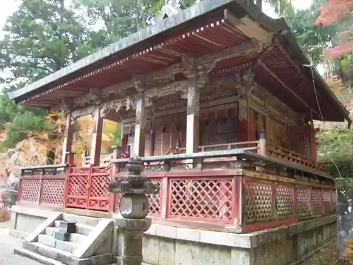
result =
[[245,182],[245,223],[270,220],[273,217],[273,184]]

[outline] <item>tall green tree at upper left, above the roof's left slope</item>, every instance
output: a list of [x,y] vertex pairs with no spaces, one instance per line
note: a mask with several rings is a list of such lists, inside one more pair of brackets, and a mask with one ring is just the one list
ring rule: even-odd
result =
[[18,89],[58,71],[92,50],[90,31],[64,0],[23,0],[8,17],[0,42],[0,69]]

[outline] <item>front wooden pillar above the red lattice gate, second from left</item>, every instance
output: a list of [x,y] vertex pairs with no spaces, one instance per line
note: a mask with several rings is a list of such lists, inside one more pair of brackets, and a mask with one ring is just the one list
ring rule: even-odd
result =
[[102,148],[103,118],[100,116],[100,108],[93,112],[92,146],[90,148],[90,163],[100,165],[100,149]]

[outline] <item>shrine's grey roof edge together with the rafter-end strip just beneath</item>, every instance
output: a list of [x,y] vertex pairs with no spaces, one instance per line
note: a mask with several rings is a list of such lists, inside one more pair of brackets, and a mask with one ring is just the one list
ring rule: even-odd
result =
[[[297,41],[292,35],[291,30],[284,18],[273,19],[265,15],[252,1],[249,0],[205,0],[200,4],[191,6],[184,11],[177,13],[167,19],[164,19],[155,25],[152,25],[144,30],[138,31],[119,42],[115,42],[104,49],[101,49],[88,57],[80,59],[76,63],[66,66],[49,76],[46,76],[39,81],[31,83],[29,86],[20,90],[8,93],[9,97],[16,102],[28,100],[34,95],[38,95],[43,91],[51,90],[54,86],[63,86],[64,83],[71,81],[79,76],[109,64],[114,59],[119,59],[132,52],[140,49],[146,49],[164,40],[167,36],[180,34],[186,28],[195,28],[200,23],[208,23],[207,21],[215,16],[220,16],[220,13],[227,8],[238,17],[249,16],[256,20],[263,28],[270,30],[272,33],[282,34],[281,38],[285,42],[285,49],[290,54],[292,59],[299,66],[304,75],[311,80],[310,69],[304,68],[304,64],[310,64],[309,59],[299,47]],[[322,93],[329,102],[333,103],[335,110],[340,113],[341,119],[349,119],[349,112],[345,110],[342,103],[335,97],[332,90],[323,81],[316,69],[313,69],[313,75],[316,80],[316,88]],[[87,76],[87,75],[86,75]],[[338,121],[338,119],[335,119]]]

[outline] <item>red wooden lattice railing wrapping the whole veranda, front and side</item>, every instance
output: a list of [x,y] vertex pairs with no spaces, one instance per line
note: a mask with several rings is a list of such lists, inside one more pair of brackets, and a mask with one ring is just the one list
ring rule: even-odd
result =
[[[225,159],[227,168],[210,169],[215,158]],[[330,177],[252,151],[142,159],[143,174],[161,190],[149,196],[153,218],[234,225],[244,232],[335,213],[335,187]],[[107,184],[127,174],[128,159],[111,162],[105,167],[22,167],[18,203],[117,211],[119,196],[109,194]]]

